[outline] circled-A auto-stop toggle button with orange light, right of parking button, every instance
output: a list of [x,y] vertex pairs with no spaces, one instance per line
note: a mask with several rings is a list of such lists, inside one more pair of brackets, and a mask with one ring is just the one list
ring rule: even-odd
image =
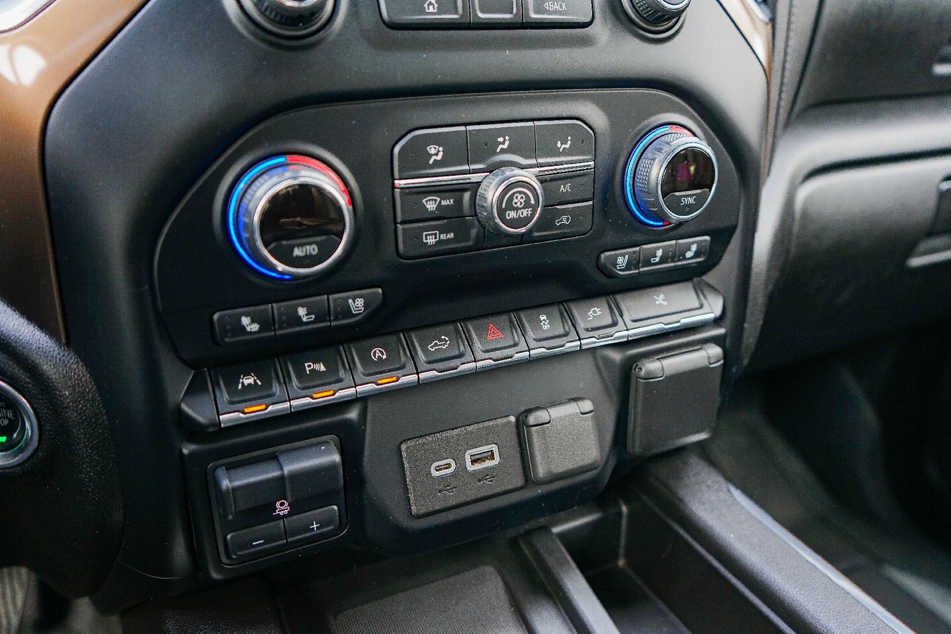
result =
[[349,343],[346,352],[358,395],[418,382],[416,366],[399,333]]

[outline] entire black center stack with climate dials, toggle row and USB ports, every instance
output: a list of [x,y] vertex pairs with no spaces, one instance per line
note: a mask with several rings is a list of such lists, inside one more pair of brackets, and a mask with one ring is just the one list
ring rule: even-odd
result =
[[708,435],[766,105],[719,3],[222,0],[173,46],[175,4],[49,119],[99,605],[524,527]]

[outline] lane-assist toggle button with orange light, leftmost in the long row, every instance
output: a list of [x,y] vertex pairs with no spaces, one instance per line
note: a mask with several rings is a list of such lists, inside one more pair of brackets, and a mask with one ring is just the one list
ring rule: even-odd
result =
[[234,363],[211,371],[222,425],[290,409],[276,358]]

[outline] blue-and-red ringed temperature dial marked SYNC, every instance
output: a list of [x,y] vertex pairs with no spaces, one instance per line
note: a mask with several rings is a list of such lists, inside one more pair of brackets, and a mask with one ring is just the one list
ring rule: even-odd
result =
[[687,128],[659,127],[631,152],[624,172],[631,213],[651,227],[693,220],[716,191],[713,150]]

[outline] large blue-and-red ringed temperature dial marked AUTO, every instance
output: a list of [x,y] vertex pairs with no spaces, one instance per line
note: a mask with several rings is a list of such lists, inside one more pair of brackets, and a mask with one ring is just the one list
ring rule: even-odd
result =
[[273,279],[331,268],[354,232],[350,193],[334,170],[306,156],[258,163],[235,186],[225,213],[238,255]]

